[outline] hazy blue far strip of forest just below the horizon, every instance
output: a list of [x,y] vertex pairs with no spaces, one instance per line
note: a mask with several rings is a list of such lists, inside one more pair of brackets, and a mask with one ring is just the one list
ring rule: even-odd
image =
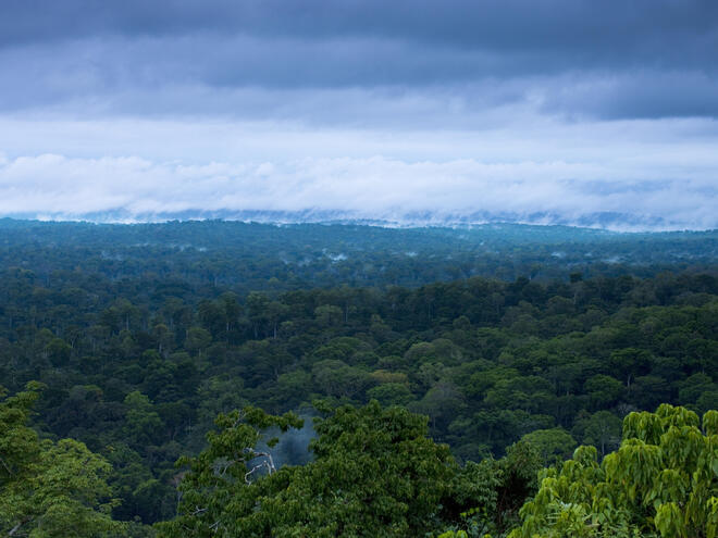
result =
[[77,266],[112,279],[154,274],[250,289],[419,286],[471,276],[549,279],[570,273],[651,276],[707,271],[718,232],[614,233],[484,224],[398,228],[366,224],[186,221],[91,224],[0,220],[0,270],[38,276]]

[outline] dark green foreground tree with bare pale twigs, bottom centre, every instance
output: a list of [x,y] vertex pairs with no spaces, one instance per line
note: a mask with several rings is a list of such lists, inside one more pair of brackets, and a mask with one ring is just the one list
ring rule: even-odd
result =
[[181,515],[160,524],[160,536],[403,537],[435,524],[457,467],[447,447],[425,437],[424,417],[377,402],[341,406],[317,423],[313,462],[270,464],[260,477],[251,470],[267,460],[249,463],[255,428],[297,424],[258,413],[220,416],[209,448],[181,461],[189,464]]

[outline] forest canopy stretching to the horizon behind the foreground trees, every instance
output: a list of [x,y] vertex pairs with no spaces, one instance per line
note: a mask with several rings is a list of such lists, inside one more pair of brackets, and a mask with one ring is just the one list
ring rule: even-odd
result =
[[[547,459],[570,438],[605,455],[631,411],[718,409],[715,232],[8,220],[0,232],[0,379],[11,395],[42,381],[33,427],[111,463],[115,520],[173,517],[174,462],[249,403],[403,405],[463,467],[524,436]],[[310,436],[276,461],[304,461]],[[449,504],[451,521],[475,508]]]

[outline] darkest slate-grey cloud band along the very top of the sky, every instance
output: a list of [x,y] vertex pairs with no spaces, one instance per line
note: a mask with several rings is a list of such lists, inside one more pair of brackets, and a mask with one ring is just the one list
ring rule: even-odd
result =
[[[567,59],[714,59],[713,0],[5,0],[5,43],[115,33],[299,39],[377,37],[470,49],[544,49]],[[713,35],[711,35],[713,34]],[[686,52],[691,57],[685,55]],[[697,58],[696,58],[697,57]]]

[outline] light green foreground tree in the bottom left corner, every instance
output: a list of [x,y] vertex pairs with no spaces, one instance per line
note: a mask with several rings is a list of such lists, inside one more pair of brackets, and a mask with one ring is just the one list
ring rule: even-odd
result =
[[0,531],[7,536],[124,535],[110,509],[111,466],[72,439],[40,440],[26,426],[37,385],[0,402]]

